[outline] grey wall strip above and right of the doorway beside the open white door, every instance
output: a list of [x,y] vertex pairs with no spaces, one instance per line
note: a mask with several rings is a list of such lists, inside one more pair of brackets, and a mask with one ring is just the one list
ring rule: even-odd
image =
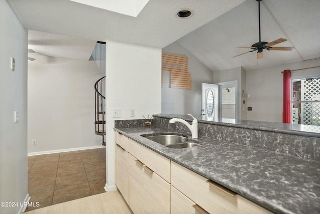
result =
[[[241,97],[242,90],[246,91],[246,74],[245,70],[241,67],[235,67],[231,69],[225,69],[222,71],[213,72],[213,82],[218,84],[221,82],[237,81],[237,118],[236,119],[246,119],[245,104],[243,104],[243,98]],[[244,99],[245,100],[245,99]],[[243,110],[244,108],[244,110]]]

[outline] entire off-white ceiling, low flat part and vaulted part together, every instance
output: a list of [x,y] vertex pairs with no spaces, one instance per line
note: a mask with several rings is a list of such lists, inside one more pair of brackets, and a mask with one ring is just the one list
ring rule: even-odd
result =
[[[87,60],[96,41],[109,39],[156,48],[178,41],[212,71],[237,66],[254,70],[320,58],[318,0],[261,2],[261,41],[284,38],[287,41],[276,47],[296,48],[265,50],[259,60],[256,52],[231,58],[248,51],[237,46],[258,42],[256,0],[150,0],[137,17],[68,0],[7,2],[31,30],[31,48],[48,56]],[[193,15],[177,18],[176,12],[185,8]]]

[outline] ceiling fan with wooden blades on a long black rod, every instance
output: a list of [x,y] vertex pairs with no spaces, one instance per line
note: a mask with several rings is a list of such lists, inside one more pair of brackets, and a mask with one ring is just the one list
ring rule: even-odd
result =
[[[286,39],[277,39],[277,40],[274,40],[272,42],[261,42],[261,33],[260,33],[260,2],[262,0],[256,0],[258,2],[258,12],[259,12],[259,42],[257,43],[254,43],[253,45],[251,45],[251,47],[237,47],[237,48],[249,48],[249,49],[252,49],[251,51],[247,51],[247,52],[244,52],[242,54],[238,54],[238,55],[235,55],[233,57],[237,57],[237,56],[241,56],[243,54],[247,54],[247,53],[250,53],[250,52],[253,52],[253,51],[257,51],[257,59],[260,59],[263,57],[263,49],[264,50],[267,50],[267,51],[291,51],[293,48],[295,47],[272,47],[274,45],[277,45],[279,43],[282,43],[282,42],[285,42]],[[233,58],[231,57],[231,58]]]

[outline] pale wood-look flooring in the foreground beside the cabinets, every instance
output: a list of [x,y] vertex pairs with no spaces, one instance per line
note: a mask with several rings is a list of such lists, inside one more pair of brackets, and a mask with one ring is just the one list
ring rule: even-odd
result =
[[26,212],[27,214],[105,214],[132,213],[118,191],[104,192],[76,200],[46,206]]

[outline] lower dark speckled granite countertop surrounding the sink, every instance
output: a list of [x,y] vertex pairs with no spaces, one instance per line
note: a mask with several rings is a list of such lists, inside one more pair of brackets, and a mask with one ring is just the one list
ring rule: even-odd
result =
[[[141,134],[160,127],[114,128],[128,138],[275,213],[320,213],[320,162],[199,136],[201,146],[172,149]],[[188,133],[183,133],[189,135]]]

